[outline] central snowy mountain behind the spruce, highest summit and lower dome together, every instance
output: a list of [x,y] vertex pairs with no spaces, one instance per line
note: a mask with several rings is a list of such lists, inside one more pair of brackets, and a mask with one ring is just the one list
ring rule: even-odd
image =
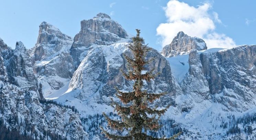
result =
[[[99,41],[98,37],[102,41]],[[89,39],[90,44],[85,41],[85,38],[92,38]],[[120,69],[124,71],[127,69],[123,54],[132,55],[126,47],[129,42],[132,40],[122,26],[106,14],[99,13],[93,19],[83,20],[81,31],[76,35],[71,47],[71,54],[76,52],[73,55],[74,61],[76,60],[80,65],[73,74],[68,91],[56,101],[65,105],[74,105],[83,116],[101,113],[102,108],[108,112],[112,111],[110,97],[114,97],[114,87],[124,91],[132,90],[133,83],[126,81],[120,71]],[[161,74],[151,83],[145,82],[145,89],[156,93],[168,92],[169,94],[162,99],[161,103],[171,104],[172,96],[181,92],[181,89],[172,78],[168,61],[154,49],[146,57],[148,60],[156,58],[149,63],[148,70],[156,67],[155,72],[161,71]],[[80,60],[81,58],[83,59]]]

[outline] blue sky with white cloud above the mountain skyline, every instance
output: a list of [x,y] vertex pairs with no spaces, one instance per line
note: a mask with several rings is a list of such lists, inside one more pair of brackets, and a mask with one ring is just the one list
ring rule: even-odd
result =
[[211,47],[256,44],[256,1],[252,0],[9,0],[0,4],[0,37],[13,48],[16,41],[33,47],[42,21],[74,37],[80,21],[99,12],[109,14],[130,34],[140,28],[145,42],[157,50],[179,30],[207,40]]

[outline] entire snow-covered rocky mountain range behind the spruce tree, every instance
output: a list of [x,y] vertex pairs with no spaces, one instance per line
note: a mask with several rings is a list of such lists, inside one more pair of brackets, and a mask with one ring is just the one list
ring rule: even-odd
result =
[[[46,22],[30,50],[21,42],[13,50],[0,38],[0,118],[5,126],[34,138],[47,133],[52,139],[104,139],[98,126],[105,126],[102,112],[114,116],[114,87],[132,90],[133,82],[120,71],[128,69],[123,55],[132,56],[126,47],[131,37],[99,13],[81,21],[74,40]],[[155,67],[161,73],[143,88],[167,92],[154,104],[172,105],[162,117],[164,127],[149,133],[169,137],[182,131],[180,139],[188,140],[254,139],[256,45],[207,49],[202,39],[183,32],[170,42],[161,53],[152,49],[146,56],[155,58],[147,70]]]

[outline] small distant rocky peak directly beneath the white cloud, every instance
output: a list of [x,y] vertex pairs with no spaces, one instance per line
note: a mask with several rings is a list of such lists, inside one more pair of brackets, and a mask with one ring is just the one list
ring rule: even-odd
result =
[[203,39],[198,37],[190,37],[182,31],[177,34],[171,44],[166,45],[162,50],[164,57],[173,57],[177,55],[188,54],[190,50],[205,50],[207,46]]

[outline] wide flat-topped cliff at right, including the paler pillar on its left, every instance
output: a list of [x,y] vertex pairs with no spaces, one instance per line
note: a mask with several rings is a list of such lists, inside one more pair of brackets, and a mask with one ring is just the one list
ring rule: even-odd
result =
[[225,111],[239,112],[255,106],[256,45],[200,53],[193,50],[189,66],[181,88],[193,102],[209,100],[223,105]]

